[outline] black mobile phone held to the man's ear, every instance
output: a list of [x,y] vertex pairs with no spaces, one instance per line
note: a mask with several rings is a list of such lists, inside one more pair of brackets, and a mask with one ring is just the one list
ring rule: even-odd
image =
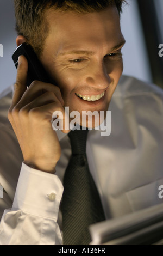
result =
[[18,65],[18,57],[20,55],[24,55],[28,60],[28,75],[27,75],[27,86],[34,80],[39,80],[46,83],[52,83],[47,72],[43,68],[40,60],[37,58],[36,53],[34,52],[32,46],[23,43],[16,48],[14,53],[12,54],[12,59],[14,60],[15,66],[17,68]]

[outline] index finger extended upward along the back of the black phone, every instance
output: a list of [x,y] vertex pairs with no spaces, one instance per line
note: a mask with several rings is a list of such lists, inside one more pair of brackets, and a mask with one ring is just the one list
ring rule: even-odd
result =
[[28,62],[26,57],[18,57],[16,83],[14,85],[14,95],[12,97],[11,108],[13,108],[21,99],[27,89],[27,71]]

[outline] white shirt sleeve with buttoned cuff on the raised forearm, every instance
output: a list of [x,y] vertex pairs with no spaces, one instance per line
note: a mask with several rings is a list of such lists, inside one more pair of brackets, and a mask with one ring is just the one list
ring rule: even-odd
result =
[[57,223],[63,186],[55,174],[22,163],[11,209],[0,224],[0,245],[61,245]]

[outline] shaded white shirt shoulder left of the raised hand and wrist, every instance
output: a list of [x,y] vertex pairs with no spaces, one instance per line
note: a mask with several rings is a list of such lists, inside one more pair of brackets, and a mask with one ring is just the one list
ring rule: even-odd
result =
[[[0,94],[0,178],[4,190],[13,200],[23,156],[16,135],[8,120],[14,86],[10,86]],[[0,206],[1,210],[1,206]]]

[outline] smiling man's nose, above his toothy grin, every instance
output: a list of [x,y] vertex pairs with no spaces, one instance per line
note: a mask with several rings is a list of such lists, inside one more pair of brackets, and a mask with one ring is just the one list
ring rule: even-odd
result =
[[86,83],[94,88],[106,89],[111,82],[108,69],[104,63],[96,63],[91,66],[87,77]]

